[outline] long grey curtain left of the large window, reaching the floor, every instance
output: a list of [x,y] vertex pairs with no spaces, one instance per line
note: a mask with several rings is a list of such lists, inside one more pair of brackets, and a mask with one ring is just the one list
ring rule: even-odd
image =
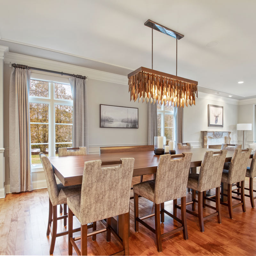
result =
[[30,71],[12,68],[9,94],[10,191],[31,191]]

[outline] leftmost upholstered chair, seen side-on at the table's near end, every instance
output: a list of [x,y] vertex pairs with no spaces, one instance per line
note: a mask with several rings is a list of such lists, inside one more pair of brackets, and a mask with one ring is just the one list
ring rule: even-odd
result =
[[[49,195],[49,217],[47,224],[46,235],[49,236],[50,232],[52,235],[51,245],[50,245],[50,254],[53,253],[56,237],[64,236],[68,234],[68,231],[64,231],[57,234],[57,221],[64,219],[64,226],[67,225],[67,214],[64,214],[61,217],[57,217],[57,205],[67,204],[67,197],[76,195],[81,192],[81,185],[67,186],[64,187],[62,184],[57,184],[55,175],[53,172],[52,164],[49,161],[48,157],[45,156],[42,152],[39,153],[43,168],[44,174],[46,177],[46,184]],[[52,226],[52,227],[51,227]],[[79,231],[80,228],[74,229],[74,232]]]

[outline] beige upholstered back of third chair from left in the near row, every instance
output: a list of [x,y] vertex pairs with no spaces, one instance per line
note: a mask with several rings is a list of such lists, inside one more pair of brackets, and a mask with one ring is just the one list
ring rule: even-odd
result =
[[198,191],[202,192],[220,187],[222,170],[228,150],[221,151],[221,154],[216,155],[213,154],[213,151],[205,152],[199,172]]

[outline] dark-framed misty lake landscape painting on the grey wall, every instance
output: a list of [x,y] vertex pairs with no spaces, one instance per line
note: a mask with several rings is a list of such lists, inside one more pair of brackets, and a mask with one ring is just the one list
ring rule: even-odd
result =
[[138,128],[138,108],[100,104],[100,127]]

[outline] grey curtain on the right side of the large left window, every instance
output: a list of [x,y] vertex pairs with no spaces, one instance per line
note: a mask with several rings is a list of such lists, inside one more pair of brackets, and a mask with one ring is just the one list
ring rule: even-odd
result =
[[73,147],[87,147],[89,152],[88,135],[88,101],[85,79],[69,78],[73,94]]

